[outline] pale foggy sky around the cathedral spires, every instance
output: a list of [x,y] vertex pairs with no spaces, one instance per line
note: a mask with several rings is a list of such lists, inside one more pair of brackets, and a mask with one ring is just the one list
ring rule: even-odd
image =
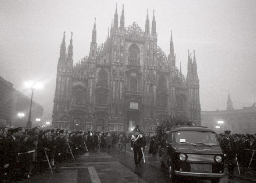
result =
[[235,109],[251,106],[256,91],[256,2],[254,0],[166,1],[0,1],[0,76],[25,95],[25,80],[44,82],[34,100],[52,116],[57,63],[63,31],[73,31],[74,64],[87,55],[94,17],[97,43],[106,40],[117,2],[124,4],[125,27],[150,28],[155,10],[157,44],[169,54],[172,29],[176,66],[187,75],[188,49],[195,50],[201,110],[224,110],[230,91]]

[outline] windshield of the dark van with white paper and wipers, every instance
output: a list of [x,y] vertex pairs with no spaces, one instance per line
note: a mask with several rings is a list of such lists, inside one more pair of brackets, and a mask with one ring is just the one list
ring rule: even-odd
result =
[[176,132],[176,142],[178,144],[192,144],[192,145],[217,145],[218,141],[215,133],[212,132],[196,132],[184,131]]

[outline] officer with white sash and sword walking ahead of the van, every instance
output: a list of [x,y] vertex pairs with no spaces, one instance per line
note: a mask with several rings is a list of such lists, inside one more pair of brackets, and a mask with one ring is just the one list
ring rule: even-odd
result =
[[131,139],[131,150],[133,150],[134,154],[134,162],[135,166],[141,166],[140,160],[142,158],[142,145],[143,145],[143,138],[142,135],[139,134],[139,128],[135,129],[135,134],[132,135]]

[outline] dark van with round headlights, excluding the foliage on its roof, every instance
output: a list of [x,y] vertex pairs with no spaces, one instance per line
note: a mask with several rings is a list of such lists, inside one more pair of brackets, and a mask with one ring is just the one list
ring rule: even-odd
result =
[[163,132],[159,155],[171,180],[187,176],[218,183],[225,176],[217,135],[206,127],[170,127]]

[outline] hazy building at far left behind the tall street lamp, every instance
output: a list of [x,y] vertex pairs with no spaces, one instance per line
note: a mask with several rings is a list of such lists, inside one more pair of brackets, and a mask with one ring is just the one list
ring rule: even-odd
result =
[[[29,116],[31,98],[13,88],[13,84],[0,77],[0,127],[6,125],[26,127]],[[44,108],[32,102],[32,126],[38,126],[36,118],[42,119]],[[24,116],[18,116],[18,114]]]

